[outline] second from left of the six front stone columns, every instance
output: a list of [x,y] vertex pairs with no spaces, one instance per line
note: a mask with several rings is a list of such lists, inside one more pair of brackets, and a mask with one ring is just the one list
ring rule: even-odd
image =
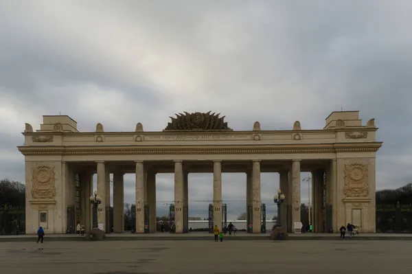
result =
[[144,163],[143,161],[135,161],[136,163],[136,233],[144,233]]

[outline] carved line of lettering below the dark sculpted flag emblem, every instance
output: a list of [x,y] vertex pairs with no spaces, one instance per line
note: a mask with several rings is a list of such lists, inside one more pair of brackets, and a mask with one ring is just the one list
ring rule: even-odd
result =
[[251,135],[146,135],[145,141],[232,141],[251,140]]

